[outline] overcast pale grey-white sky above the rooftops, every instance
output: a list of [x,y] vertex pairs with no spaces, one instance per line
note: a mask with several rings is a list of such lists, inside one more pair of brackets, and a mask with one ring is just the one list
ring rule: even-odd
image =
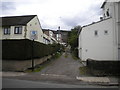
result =
[[98,21],[104,0],[1,0],[0,16],[38,15],[42,28],[70,30]]

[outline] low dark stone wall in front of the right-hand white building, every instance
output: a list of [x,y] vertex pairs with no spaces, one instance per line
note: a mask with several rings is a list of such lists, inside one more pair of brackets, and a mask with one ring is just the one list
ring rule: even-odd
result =
[[97,61],[87,59],[86,64],[94,75],[120,75],[120,61]]

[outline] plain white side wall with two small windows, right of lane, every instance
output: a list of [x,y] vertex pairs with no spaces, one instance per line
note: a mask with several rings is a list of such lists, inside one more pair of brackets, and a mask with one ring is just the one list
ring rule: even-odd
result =
[[[112,19],[84,27],[79,36],[79,57],[86,61],[91,58],[95,60],[115,60],[113,54],[113,23]],[[98,36],[94,31],[98,31]],[[104,34],[107,30],[108,34]],[[80,51],[80,48],[82,50]]]

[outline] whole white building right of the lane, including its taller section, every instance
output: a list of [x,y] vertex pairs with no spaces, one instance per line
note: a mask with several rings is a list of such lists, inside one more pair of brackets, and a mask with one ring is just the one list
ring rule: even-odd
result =
[[79,58],[86,61],[120,60],[120,1],[102,5],[103,18],[82,27],[79,35]]

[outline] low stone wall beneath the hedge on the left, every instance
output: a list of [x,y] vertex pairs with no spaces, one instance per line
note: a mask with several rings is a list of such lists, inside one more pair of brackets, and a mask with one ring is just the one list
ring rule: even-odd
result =
[[[34,59],[34,65],[42,64],[52,56],[46,56],[41,59]],[[2,60],[3,71],[24,71],[32,67],[32,60]]]

